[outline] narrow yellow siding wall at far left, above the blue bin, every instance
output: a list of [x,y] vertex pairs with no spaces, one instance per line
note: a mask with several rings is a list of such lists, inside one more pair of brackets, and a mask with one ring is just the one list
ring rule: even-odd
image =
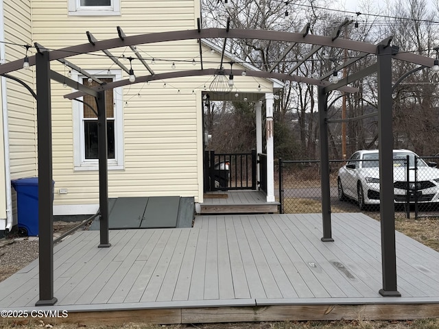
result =
[[[4,62],[10,62],[25,56],[24,45],[32,42],[32,17],[30,1],[5,0],[3,2],[3,38],[4,38]],[[28,52],[32,55],[32,49]],[[29,86],[33,86],[34,75],[32,71],[23,69],[14,72],[12,75],[23,80]],[[13,80],[3,78],[0,93],[2,94],[1,108],[5,114],[5,125],[8,126],[6,134],[1,132],[3,140],[0,150],[0,160],[2,166],[1,186],[5,189],[0,193],[0,218],[5,212],[12,214],[16,208],[15,193],[11,188],[9,178],[25,178],[36,176],[37,156],[36,156],[36,112],[35,103],[32,95],[21,84]],[[3,118],[2,118],[3,119]],[[2,123],[3,127],[3,123]],[[5,149],[3,149],[5,147]],[[8,153],[8,147],[10,152]],[[7,152],[5,156],[5,150]],[[8,159],[10,159],[8,161]],[[4,171],[3,171],[4,170]],[[11,217],[5,227],[10,228]],[[0,230],[3,227],[0,228]]]

